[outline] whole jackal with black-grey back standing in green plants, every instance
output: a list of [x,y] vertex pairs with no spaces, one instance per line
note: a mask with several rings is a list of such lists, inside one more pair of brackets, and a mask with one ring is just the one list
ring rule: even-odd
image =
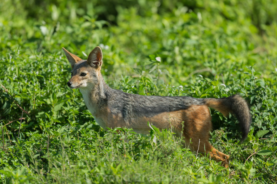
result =
[[242,140],[247,137],[252,123],[251,114],[247,102],[238,94],[220,99],[129,94],[111,89],[105,83],[101,74],[100,47],[94,48],[87,60],[73,55],[65,48],[63,51],[72,68],[67,85],[71,89],[80,89],[89,111],[105,130],[106,127],[127,127],[138,133],[147,133],[150,130],[147,124],[149,121],[157,128],[172,129],[192,151],[196,151],[199,146],[200,152],[222,162],[224,167],[228,167],[229,156],[216,150],[208,141],[212,129],[208,107],[225,116],[234,114],[242,130]]

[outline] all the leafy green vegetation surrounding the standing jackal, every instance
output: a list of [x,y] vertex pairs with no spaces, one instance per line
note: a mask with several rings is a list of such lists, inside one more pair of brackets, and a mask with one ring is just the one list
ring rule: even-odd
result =
[[[276,183],[276,1],[2,0],[0,32],[0,183]],[[211,109],[229,169],[166,130],[100,128],[61,50],[86,59],[95,46],[115,89],[240,93],[253,118],[243,144],[237,120]]]

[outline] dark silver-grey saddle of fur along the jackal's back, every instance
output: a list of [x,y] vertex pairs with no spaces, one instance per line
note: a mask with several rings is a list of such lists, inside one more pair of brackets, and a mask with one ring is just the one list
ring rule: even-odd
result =
[[143,115],[152,117],[163,112],[185,110],[192,105],[204,105],[204,99],[188,96],[144,96],[114,90],[109,99],[111,113],[122,113],[123,117]]

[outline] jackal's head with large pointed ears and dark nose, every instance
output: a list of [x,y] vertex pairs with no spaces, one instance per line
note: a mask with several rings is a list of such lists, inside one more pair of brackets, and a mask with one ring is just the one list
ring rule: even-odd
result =
[[71,89],[92,89],[99,83],[102,66],[102,51],[100,47],[95,47],[87,60],[79,58],[68,52],[65,48],[63,48],[63,51],[72,68],[71,78],[67,82],[68,87]]

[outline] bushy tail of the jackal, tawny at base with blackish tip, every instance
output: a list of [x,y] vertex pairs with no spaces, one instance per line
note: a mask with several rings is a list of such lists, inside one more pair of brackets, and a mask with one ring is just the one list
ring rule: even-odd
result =
[[242,131],[241,141],[247,138],[252,118],[247,102],[239,94],[220,99],[207,98],[205,103],[208,107],[218,110],[224,116],[229,115],[229,113],[234,114]]

